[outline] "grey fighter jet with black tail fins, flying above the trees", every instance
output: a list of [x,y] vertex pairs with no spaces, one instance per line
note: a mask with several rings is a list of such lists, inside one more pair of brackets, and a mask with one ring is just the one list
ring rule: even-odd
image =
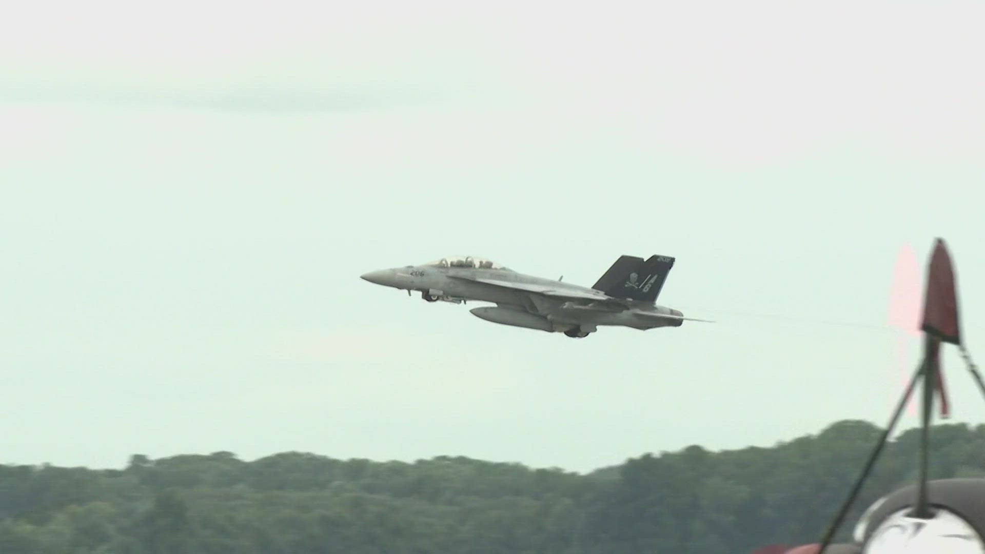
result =
[[623,255],[591,288],[525,275],[489,259],[449,256],[421,265],[380,269],[361,278],[384,287],[421,292],[427,302],[493,303],[470,312],[494,323],[563,332],[583,338],[599,325],[633,329],[680,327],[682,312],[655,304],[675,258]]

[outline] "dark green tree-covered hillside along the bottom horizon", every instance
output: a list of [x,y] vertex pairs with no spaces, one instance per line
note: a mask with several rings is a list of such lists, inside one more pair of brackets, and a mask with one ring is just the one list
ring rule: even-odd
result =
[[[743,554],[820,538],[881,430],[646,454],[588,475],[466,457],[132,456],[119,470],[0,466],[4,554]],[[913,479],[885,451],[844,525]],[[985,475],[985,428],[938,426],[935,477]],[[590,438],[585,448],[591,448]],[[843,534],[844,534],[843,533]]]

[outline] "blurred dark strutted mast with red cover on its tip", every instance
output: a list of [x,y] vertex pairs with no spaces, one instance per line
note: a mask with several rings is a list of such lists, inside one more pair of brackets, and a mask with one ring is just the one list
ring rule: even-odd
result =
[[921,330],[924,333],[923,359],[921,359],[920,364],[917,366],[917,370],[913,374],[906,390],[903,391],[899,402],[896,404],[896,409],[886,426],[886,431],[870,454],[865,467],[852,486],[848,498],[845,499],[845,502],[841,505],[841,508],[824,532],[824,537],[821,539],[820,548],[818,549],[820,554],[823,554],[824,549],[830,544],[838,527],[851,509],[852,503],[861,491],[862,485],[869,477],[869,473],[872,471],[876,460],[886,446],[889,435],[896,426],[899,416],[902,414],[903,408],[907,400],[909,400],[910,394],[913,392],[914,386],[917,381],[921,380],[923,381],[923,395],[920,422],[920,480],[917,486],[917,498],[910,517],[929,519],[934,516],[933,511],[930,509],[930,502],[927,495],[927,482],[930,461],[930,423],[933,416],[935,392],[941,397],[942,416],[948,417],[949,411],[948,397],[944,387],[944,376],[941,372],[940,350],[942,342],[954,344],[958,347],[968,372],[978,384],[978,389],[982,392],[982,396],[985,397],[985,382],[982,381],[977,367],[972,362],[967,348],[961,341],[962,337],[960,333],[960,320],[957,310],[957,294],[951,255],[948,253],[947,245],[942,239],[938,239],[935,243],[928,267]]

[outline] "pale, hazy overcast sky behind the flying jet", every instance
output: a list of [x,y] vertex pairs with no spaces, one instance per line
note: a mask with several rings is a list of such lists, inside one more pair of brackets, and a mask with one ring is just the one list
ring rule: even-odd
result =
[[[896,255],[937,236],[985,360],[985,5],[602,6],[12,8],[0,462],[589,470],[884,425]],[[676,256],[661,304],[717,322],[572,340],[359,278],[450,253]]]

